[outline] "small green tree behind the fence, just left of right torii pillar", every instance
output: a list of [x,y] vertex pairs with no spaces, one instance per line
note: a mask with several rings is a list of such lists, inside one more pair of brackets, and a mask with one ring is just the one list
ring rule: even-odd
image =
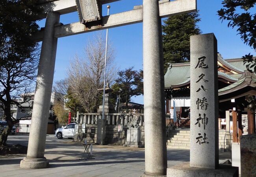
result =
[[[116,79],[118,94],[120,94],[120,101],[125,102],[126,112],[128,113],[128,102],[132,96],[138,96],[143,94],[143,72],[134,70],[134,67],[130,67],[125,70],[121,70],[118,73],[118,79]],[[117,93],[116,93],[117,94]]]

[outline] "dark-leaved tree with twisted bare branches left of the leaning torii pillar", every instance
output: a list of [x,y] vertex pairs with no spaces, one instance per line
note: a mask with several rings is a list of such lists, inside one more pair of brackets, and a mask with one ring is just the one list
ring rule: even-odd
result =
[[36,21],[41,12],[35,2],[0,1],[0,108],[8,124],[0,135],[0,146],[6,145],[13,124],[19,122],[12,119],[11,105],[21,107],[22,102],[17,101],[19,95],[34,90],[39,50],[30,35],[39,30]]

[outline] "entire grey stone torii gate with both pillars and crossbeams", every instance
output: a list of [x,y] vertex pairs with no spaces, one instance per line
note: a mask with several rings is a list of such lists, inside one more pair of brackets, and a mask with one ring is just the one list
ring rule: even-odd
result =
[[[89,0],[91,1],[91,0]],[[100,4],[117,0],[97,0]],[[104,30],[143,22],[143,72],[145,107],[145,173],[143,176],[166,175],[164,73],[161,18],[197,10],[196,0],[143,0],[134,10],[104,16],[101,20],[63,25],[59,16],[77,11],[75,0],[39,0],[46,17],[45,28],[34,35],[42,41],[37,85],[32,112],[32,124],[27,156],[21,168],[46,168],[45,140],[59,37]]]

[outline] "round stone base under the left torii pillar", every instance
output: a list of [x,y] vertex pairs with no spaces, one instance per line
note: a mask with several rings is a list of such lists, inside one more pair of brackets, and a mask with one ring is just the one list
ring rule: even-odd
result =
[[30,159],[24,157],[23,160],[20,161],[20,168],[25,169],[38,169],[38,168],[47,168],[49,165],[49,160],[44,158]]

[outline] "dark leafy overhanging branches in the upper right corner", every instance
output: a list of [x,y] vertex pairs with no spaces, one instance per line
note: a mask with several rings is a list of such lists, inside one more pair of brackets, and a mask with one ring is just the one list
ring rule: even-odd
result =
[[[256,49],[256,0],[224,0],[218,11],[220,20],[228,20],[228,28],[237,28],[242,41]],[[250,53],[242,57],[247,70],[256,73],[256,59]]]

